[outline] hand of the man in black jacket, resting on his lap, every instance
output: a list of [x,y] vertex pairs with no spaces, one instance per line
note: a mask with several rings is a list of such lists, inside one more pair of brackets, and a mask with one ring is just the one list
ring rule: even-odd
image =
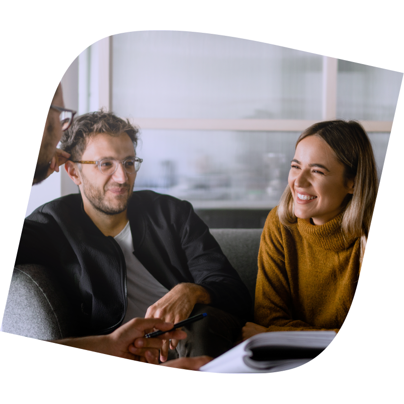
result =
[[[171,323],[187,319],[197,303],[209,304],[210,295],[203,286],[195,283],[180,283],[165,296],[150,306],[146,318],[160,318]],[[163,342],[160,361],[165,362],[168,355],[168,339]],[[176,349],[178,338],[172,338],[170,348]]]

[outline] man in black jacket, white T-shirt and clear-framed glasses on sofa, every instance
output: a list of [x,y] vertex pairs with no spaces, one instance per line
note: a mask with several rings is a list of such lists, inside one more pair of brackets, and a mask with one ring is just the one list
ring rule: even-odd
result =
[[167,360],[169,344],[181,357],[217,357],[250,317],[249,293],[189,202],[133,192],[143,161],[137,133],[105,111],[73,122],[62,149],[80,194],[27,217],[16,262],[58,269],[86,334],[138,317],[176,323],[207,312],[187,326],[187,339],[164,340],[160,360]]

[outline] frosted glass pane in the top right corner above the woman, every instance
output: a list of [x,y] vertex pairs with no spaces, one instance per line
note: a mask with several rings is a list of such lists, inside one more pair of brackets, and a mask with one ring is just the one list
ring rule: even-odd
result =
[[338,60],[337,117],[393,121],[402,73]]

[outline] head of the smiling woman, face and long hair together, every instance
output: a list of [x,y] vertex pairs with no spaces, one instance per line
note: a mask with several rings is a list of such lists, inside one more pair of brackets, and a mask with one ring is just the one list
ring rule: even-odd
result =
[[[300,203],[301,198],[296,197],[302,180],[298,172],[303,167],[295,166],[297,168],[294,168],[293,162],[300,155],[306,159],[306,164],[310,165],[313,171],[311,180],[307,184],[308,189],[318,187],[321,190],[319,191],[321,195],[318,195],[319,200],[312,206],[313,209],[317,208],[314,212],[309,208],[304,213],[305,210]],[[309,159],[312,161],[307,161]],[[316,163],[320,159],[325,165]],[[288,177],[288,187],[278,206],[280,222],[285,226],[294,225],[299,217],[311,218],[312,224],[324,224],[342,213],[342,232],[361,239],[360,261],[362,263],[377,195],[376,162],[365,130],[356,121],[336,120],[312,125],[300,135],[296,142],[294,160],[292,160]],[[316,167],[319,169],[316,170]],[[316,180],[314,180],[314,173],[317,176]],[[294,181],[294,178],[298,183]],[[325,187],[324,190],[322,190],[323,187]],[[303,188],[301,187],[300,190],[304,191]],[[340,199],[341,196],[342,199]],[[310,212],[315,217],[311,216]],[[318,215],[323,217],[317,218]]]

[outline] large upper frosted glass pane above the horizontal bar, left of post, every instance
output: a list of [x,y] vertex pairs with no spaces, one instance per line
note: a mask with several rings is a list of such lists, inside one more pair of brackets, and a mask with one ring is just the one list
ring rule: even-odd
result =
[[321,55],[181,31],[128,32],[112,42],[120,116],[321,120]]

